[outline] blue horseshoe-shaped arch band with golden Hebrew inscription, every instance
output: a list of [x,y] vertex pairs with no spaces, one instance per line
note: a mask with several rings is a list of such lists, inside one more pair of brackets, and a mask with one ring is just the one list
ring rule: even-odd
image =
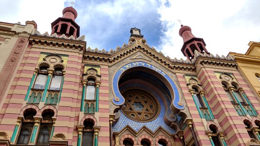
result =
[[116,74],[113,78],[113,90],[114,90],[115,95],[119,98],[119,101],[115,101],[115,99],[113,99],[113,103],[115,105],[120,106],[124,103],[124,98],[119,91],[119,85],[118,85],[120,76],[126,70],[134,68],[134,67],[146,67],[151,70],[154,70],[157,73],[160,73],[170,83],[170,85],[174,91],[173,105],[180,110],[184,109],[184,106],[178,105],[178,102],[180,102],[180,95],[179,95],[177,86],[175,85],[173,80],[166,73],[162,72],[158,67],[155,67],[155,66],[153,66],[149,63],[143,62],[143,61],[137,61],[137,62],[131,62],[131,63],[125,64],[116,72]]

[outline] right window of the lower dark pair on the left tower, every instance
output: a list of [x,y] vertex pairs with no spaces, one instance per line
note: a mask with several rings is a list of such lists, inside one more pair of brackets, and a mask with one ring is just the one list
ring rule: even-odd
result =
[[54,116],[53,110],[44,110],[42,112],[42,121],[40,122],[40,129],[37,139],[38,145],[47,145],[52,131],[52,117]]

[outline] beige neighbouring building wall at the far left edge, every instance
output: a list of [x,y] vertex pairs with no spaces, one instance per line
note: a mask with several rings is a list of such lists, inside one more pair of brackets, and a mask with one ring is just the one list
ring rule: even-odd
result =
[[26,25],[0,22],[0,108],[35,28],[34,21],[26,21]]

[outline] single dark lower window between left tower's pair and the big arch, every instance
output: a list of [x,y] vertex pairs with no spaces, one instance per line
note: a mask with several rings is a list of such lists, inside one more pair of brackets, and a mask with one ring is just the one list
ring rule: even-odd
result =
[[94,124],[91,121],[83,122],[84,128],[82,132],[82,143],[81,146],[93,146],[94,143],[94,133],[93,126]]

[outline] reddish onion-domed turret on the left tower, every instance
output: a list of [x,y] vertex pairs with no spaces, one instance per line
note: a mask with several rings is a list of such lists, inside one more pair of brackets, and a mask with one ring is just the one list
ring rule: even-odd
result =
[[77,11],[73,7],[66,7],[62,11],[62,15],[62,17],[56,19],[51,23],[51,35],[56,33],[58,36],[64,34],[66,37],[79,37],[80,26],[75,22],[75,19],[78,16]]

